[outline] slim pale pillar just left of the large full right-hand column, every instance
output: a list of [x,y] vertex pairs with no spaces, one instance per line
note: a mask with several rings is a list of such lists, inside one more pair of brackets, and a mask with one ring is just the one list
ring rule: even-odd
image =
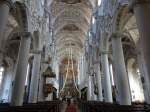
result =
[[112,85],[111,85],[111,79],[110,79],[108,52],[107,51],[102,51],[101,60],[102,60],[102,70],[104,73],[104,101],[112,103],[113,102]]

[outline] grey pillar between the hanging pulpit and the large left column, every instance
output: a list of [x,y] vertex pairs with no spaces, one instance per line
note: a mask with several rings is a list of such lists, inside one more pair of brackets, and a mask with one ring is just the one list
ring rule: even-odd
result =
[[39,80],[40,80],[40,65],[41,65],[41,53],[37,51],[34,53],[33,69],[29,91],[29,103],[37,103],[39,92]]

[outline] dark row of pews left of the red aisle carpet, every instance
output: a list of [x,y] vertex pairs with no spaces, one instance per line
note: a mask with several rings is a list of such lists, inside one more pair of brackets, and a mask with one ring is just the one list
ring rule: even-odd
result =
[[0,112],[60,112],[61,105],[61,101],[30,103],[15,107],[0,104]]

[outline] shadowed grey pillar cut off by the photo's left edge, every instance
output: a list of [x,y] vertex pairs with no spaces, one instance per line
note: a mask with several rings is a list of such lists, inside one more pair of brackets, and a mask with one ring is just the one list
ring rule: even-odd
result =
[[[8,21],[9,11],[11,8],[12,8],[11,0],[0,0],[0,48],[2,47],[3,33]],[[0,49],[0,59],[2,59],[3,53],[2,50],[3,49]]]

